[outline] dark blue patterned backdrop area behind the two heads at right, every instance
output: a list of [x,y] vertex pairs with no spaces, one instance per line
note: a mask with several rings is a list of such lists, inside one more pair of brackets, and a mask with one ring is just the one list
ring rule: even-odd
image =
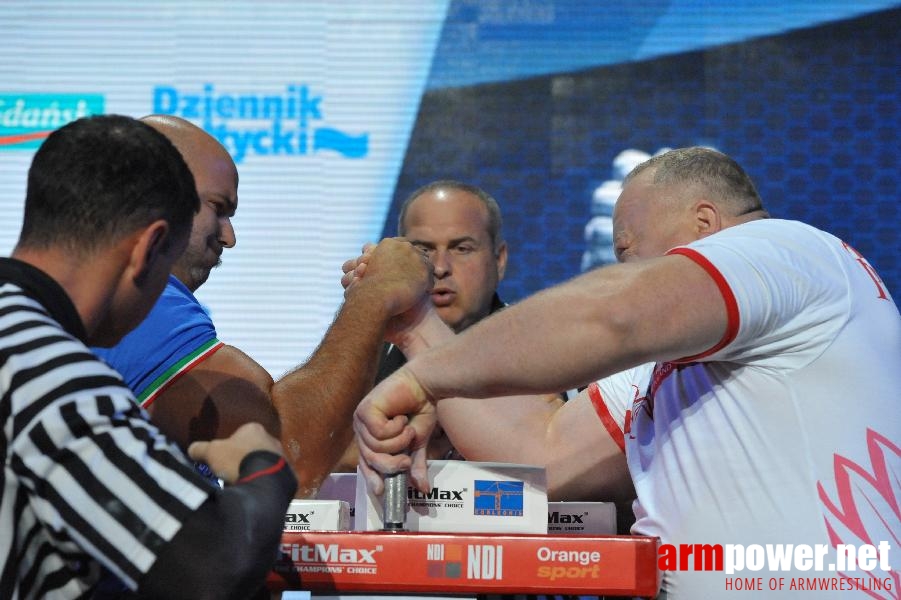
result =
[[611,178],[617,154],[700,144],[736,158],[773,216],[856,247],[898,298],[901,10],[644,60],[449,85],[445,54],[459,45],[446,38],[460,35],[454,19],[472,17],[470,9],[452,3],[385,235],[395,235],[398,203],[423,183],[455,178],[484,187],[504,211],[511,261],[501,291],[515,301],[580,272],[591,195]]

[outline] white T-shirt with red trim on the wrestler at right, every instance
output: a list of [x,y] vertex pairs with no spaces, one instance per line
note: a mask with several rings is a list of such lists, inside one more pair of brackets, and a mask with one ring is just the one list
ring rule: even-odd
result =
[[[656,365],[633,407],[633,531],[676,545],[830,547],[825,572],[695,572],[688,557],[689,570],[665,573],[670,600],[726,597],[729,577],[784,577],[782,594],[792,577],[826,578],[845,586],[836,597],[869,597],[828,565],[836,544],[887,541],[901,567],[901,316],[888,290],[853,248],[792,221],[669,254],[714,278],[729,325],[708,352]],[[898,590],[897,571],[844,576]]]

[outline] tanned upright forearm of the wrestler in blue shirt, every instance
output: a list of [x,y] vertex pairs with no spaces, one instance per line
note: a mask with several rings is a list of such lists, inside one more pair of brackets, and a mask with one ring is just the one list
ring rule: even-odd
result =
[[388,316],[377,294],[355,286],[310,359],[272,388],[298,497],[315,493],[353,440],[353,411],[375,379]]

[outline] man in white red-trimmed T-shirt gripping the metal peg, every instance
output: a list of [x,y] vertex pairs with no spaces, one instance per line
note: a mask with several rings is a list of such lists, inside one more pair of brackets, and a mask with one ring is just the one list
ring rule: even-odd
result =
[[[679,149],[639,165],[614,214],[626,264],[485,319],[364,399],[355,418],[371,483],[412,461],[425,485],[438,399],[565,389],[653,361],[624,432],[633,532],[672,545],[897,540],[898,308],[847,243],[768,217],[750,178],[719,152]],[[591,427],[575,422],[559,443],[590,452],[579,440]],[[398,454],[408,447],[411,456]],[[843,587],[855,573],[828,564],[752,574],[832,577],[834,594],[866,593]],[[870,575],[898,582],[894,571]],[[717,597],[726,578],[669,570],[663,591]]]

